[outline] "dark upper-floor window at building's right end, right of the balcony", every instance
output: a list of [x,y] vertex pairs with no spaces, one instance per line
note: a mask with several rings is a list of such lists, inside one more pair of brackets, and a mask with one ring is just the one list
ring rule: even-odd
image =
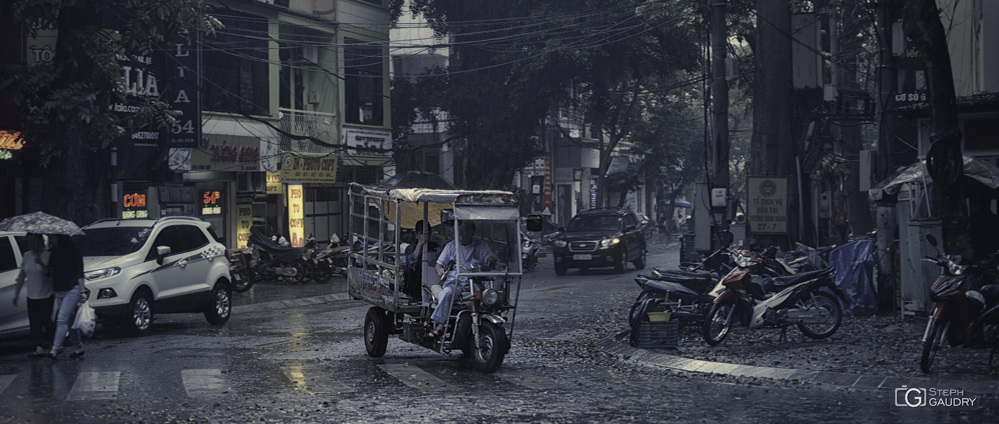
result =
[[351,38],[344,39],[344,43],[347,45],[344,48],[345,120],[349,124],[383,125],[385,49],[378,42]]

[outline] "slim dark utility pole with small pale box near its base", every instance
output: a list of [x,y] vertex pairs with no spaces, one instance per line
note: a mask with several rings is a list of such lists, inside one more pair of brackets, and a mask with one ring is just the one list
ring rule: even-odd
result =
[[[725,80],[725,53],[728,32],[725,29],[725,0],[711,3],[711,175],[715,189],[728,190],[728,82]],[[727,211],[721,211],[718,230],[728,230]],[[713,246],[718,247],[718,246]]]

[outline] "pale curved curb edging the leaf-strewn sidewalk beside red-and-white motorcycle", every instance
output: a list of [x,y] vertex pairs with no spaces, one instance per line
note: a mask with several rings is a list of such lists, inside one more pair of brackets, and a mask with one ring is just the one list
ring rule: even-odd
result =
[[[620,334],[620,333],[619,333]],[[664,367],[678,371],[703,372],[708,374],[731,375],[737,377],[763,377],[784,381],[810,382],[835,388],[852,387],[857,389],[878,389],[892,391],[903,385],[908,387],[936,387],[940,389],[962,389],[967,393],[999,393],[999,381],[955,380],[947,378],[888,377],[883,375],[863,375],[842,372],[808,371],[792,368],[774,368],[754,365],[738,365],[689,359],[664,352],[637,348],[616,335],[596,342],[600,351],[616,356],[623,362],[639,365]]]

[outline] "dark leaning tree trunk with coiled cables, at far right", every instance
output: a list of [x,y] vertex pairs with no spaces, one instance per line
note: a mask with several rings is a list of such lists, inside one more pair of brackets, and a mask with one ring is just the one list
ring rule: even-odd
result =
[[[926,86],[932,119],[930,141],[934,147],[951,152],[960,162],[961,131],[957,120],[957,97],[954,76],[950,69],[947,37],[940,22],[935,0],[906,2],[902,22],[905,35],[919,51],[926,68]],[[950,156],[950,155],[948,155]],[[933,182],[936,209],[943,222],[944,251],[972,257],[971,235],[968,233],[968,210],[959,181]]]

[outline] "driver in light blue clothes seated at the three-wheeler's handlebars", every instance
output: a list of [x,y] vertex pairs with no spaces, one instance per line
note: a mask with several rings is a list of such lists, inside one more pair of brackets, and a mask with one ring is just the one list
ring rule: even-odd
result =
[[[459,248],[456,241],[462,244],[461,260],[458,260]],[[458,239],[452,240],[444,246],[444,250],[441,251],[437,264],[434,266],[437,269],[438,276],[443,276],[447,270],[447,266],[456,260],[467,269],[482,268],[483,265],[486,265],[485,267],[488,268],[497,263],[497,256],[493,254],[493,250],[490,249],[489,244],[482,239],[476,238],[476,222],[472,220],[463,220],[458,226]],[[439,338],[444,334],[445,325],[451,316],[451,306],[454,302],[455,293],[469,289],[469,278],[463,276],[459,279],[458,269],[452,269],[444,282],[443,288],[444,290],[441,291],[438,307],[431,315],[431,319],[436,324],[434,329],[427,334],[431,338]]]

